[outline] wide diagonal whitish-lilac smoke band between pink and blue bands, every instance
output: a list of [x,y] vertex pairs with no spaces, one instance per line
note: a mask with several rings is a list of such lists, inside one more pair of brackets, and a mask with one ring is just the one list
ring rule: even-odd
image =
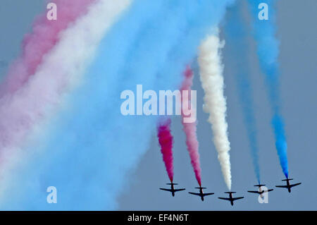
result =
[[30,131],[61,106],[63,94],[80,83],[106,30],[130,4],[129,0],[117,2],[113,5],[111,0],[101,0],[93,4],[86,16],[61,33],[61,40],[46,55],[37,73],[13,95],[0,99],[1,166],[15,154],[13,150],[23,145]]

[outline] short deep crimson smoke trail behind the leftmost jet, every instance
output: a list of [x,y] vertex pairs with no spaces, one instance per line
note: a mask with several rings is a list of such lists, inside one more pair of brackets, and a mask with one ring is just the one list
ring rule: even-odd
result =
[[166,166],[166,171],[170,182],[173,182],[174,166],[173,166],[173,135],[170,133],[170,118],[164,118],[159,121],[158,138],[163,154],[163,161]]

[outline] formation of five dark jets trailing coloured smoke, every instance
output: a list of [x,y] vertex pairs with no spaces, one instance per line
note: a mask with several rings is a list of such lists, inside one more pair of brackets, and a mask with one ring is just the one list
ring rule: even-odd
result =
[[[277,188],[287,188],[288,192],[291,193],[291,188],[293,188],[294,186],[299,186],[301,183],[294,183],[294,184],[290,184],[290,181],[292,181],[293,179],[287,178],[285,180],[282,181],[286,181],[286,186],[275,186]],[[178,183],[166,183],[167,185],[170,185],[170,189],[168,188],[160,188],[161,190],[166,190],[169,191],[170,193],[172,193],[172,196],[175,196],[175,192],[178,192],[180,190],[186,190],[185,188],[180,188],[180,189],[175,189],[174,186],[178,185]],[[258,187],[258,190],[248,190],[249,193],[255,193],[260,195],[263,198],[263,193],[268,193],[269,191],[272,191],[273,189],[268,189],[266,190],[266,188],[263,188],[264,186],[266,186],[265,184],[257,184],[254,187]],[[191,195],[197,195],[201,198],[201,201],[204,201],[204,197],[208,196],[208,195],[214,195],[215,193],[204,193],[204,189],[206,188],[202,188],[201,186],[198,187],[197,189],[199,189],[199,193],[192,193],[189,192],[189,194]],[[225,194],[229,194],[229,197],[218,197],[221,200],[227,200],[230,202],[230,204],[233,206],[233,202],[235,200],[240,200],[244,197],[232,197],[232,194],[234,194],[235,192],[225,192]]]

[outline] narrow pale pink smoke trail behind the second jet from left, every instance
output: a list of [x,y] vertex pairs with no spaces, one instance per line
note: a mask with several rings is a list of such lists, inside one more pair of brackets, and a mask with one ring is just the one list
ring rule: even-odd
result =
[[[183,93],[185,90],[188,91],[188,93],[192,90],[192,79],[193,79],[193,72],[192,69],[188,66],[185,71],[185,80],[182,83],[181,92]],[[182,102],[188,102],[188,105],[190,105],[190,99],[188,98],[188,95],[182,94]],[[200,168],[200,161],[199,161],[199,143],[197,140],[197,122],[193,123],[185,123],[184,118],[186,115],[184,114],[184,111],[182,110],[182,126],[183,130],[186,135],[186,145],[187,150],[189,152],[189,157],[192,163],[192,167],[194,168],[194,173],[197,179],[197,182],[199,183],[199,186],[201,186],[201,168]],[[195,116],[196,118],[196,116]]]

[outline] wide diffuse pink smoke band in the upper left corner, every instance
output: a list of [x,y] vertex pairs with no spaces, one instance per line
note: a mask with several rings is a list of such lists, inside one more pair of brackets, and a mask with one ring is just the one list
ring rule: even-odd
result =
[[95,0],[51,1],[57,6],[57,20],[48,20],[47,11],[35,20],[32,33],[25,35],[23,39],[22,53],[9,66],[8,74],[0,85],[0,97],[18,90],[35,73],[44,56],[60,39],[61,31],[85,14],[93,1]]

